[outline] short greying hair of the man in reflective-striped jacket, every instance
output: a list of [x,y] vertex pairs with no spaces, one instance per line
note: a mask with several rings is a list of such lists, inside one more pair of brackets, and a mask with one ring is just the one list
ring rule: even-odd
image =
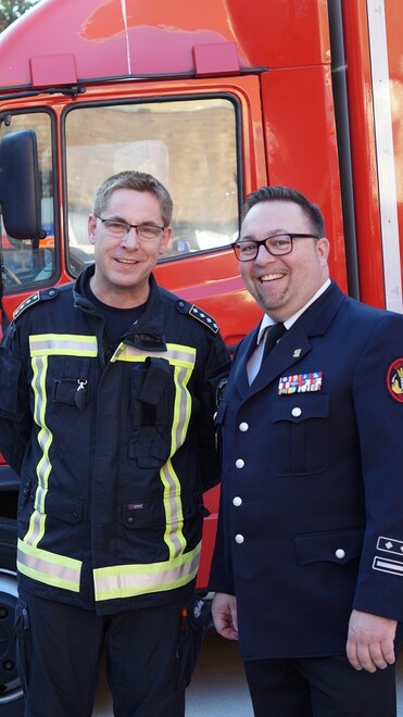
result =
[[95,214],[102,215],[111,194],[113,194],[116,189],[134,189],[135,191],[148,191],[153,194],[160,202],[164,226],[169,226],[172,222],[173,201],[168,190],[151,174],[136,172],[135,169],[119,172],[102,181],[97,189],[93,201]]

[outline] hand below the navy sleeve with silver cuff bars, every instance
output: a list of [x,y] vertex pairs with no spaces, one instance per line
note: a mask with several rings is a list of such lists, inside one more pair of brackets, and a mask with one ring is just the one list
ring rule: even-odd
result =
[[376,672],[393,665],[396,625],[396,620],[353,609],[347,641],[347,656],[352,666]]

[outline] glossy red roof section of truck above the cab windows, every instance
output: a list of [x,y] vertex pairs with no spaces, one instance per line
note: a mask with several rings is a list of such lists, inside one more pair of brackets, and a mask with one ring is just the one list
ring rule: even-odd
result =
[[1,34],[0,91],[323,64],[327,23],[320,0],[41,0]]

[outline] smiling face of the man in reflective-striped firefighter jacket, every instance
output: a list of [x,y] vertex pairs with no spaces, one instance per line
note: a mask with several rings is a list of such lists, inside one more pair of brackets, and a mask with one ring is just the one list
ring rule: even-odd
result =
[[[127,224],[164,226],[161,204],[149,191],[116,189],[102,211],[102,218]],[[91,289],[96,297],[110,306],[128,309],[147,301],[149,277],[158,259],[165,253],[172,234],[171,227],[161,237],[139,240],[136,229],[123,238],[108,234],[95,214],[88,219],[88,236],[95,248],[96,271]]]

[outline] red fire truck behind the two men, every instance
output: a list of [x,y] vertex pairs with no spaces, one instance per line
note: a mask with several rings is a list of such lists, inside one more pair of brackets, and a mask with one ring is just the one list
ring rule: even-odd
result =
[[[402,0],[41,0],[0,37],[1,316],[92,261],[97,185],[135,167],[175,203],[159,281],[234,347],[259,312],[228,248],[245,194],[324,210],[331,275],[402,311]],[[17,715],[16,477],[0,465],[0,715]],[[207,495],[205,587],[217,491]]]

